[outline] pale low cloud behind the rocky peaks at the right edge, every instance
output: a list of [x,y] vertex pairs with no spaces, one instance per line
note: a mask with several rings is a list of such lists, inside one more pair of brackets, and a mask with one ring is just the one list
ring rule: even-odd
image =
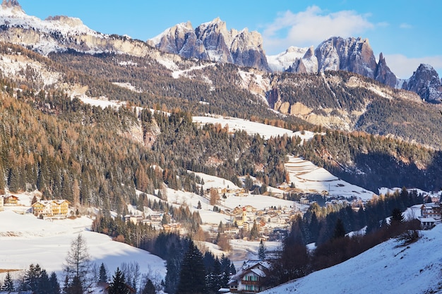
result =
[[409,58],[402,54],[385,55],[386,63],[398,78],[410,78],[421,63],[426,63],[438,72],[439,78],[442,73],[442,55]]

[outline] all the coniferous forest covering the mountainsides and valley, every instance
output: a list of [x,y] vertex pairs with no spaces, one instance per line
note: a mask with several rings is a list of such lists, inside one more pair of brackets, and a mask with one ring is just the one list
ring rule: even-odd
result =
[[[0,194],[38,190],[43,199],[62,198],[76,208],[97,208],[92,231],[165,259],[167,276],[160,287],[167,293],[188,293],[189,288],[192,293],[217,293],[235,273],[229,258],[215,257],[196,246],[196,241],[208,239],[198,213],[201,203],[195,210],[168,202],[167,188],[204,193],[197,172],[230,180],[246,192],[265,193],[268,186],[289,184],[284,164],[293,155],[367,190],[410,187],[433,191],[442,187],[438,111],[412,99],[385,99],[364,87],[325,85],[325,78],[349,82],[357,77],[372,82],[353,73],[266,73],[263,78],[275,84],[269,92],[276,93],[277,99],[265,102],[239,85],[239,71],[249,69],[232,64],[205,66],[193,70],[190,78],[174,78],[150,57],[76,51],[44,57],[11,44],[0,44],[0,53],[37,61],[57,71],[69,87],[87,88],[85,94],[90,97],[126,102],[104,108],[86,104],[80,97],[71,97],[66,85],[44,85],[32,68],[20,72],[24,79],[1,73]],[[188,69],[195,62],[204,63],[184,60],[179,66]],[[205,82],[207,79],[211,82]],[[115,84],[128,81],[136,91]],[[392,92],[399,95],[397,90]],[[281,101],[299,102],[323,116],[345,116],[344,110],[348,111],[354,120],[352,130],[325,128],[300,116],[277,114],[271,107]],[[358,111],[364,113],[357,117],[354,113]],[[397,115],[392,118],[391,113]],[[315,135],[304,142],[286,135],[265,140],[228,125],[193,123],[193,116],[204,114],[245,118],[292,131],[310,130]],[[261,186],[254,185],[251,177]],[[299,200],[301,195],[284,197]],[[403,188],[376,196],[359,211],[343,203],[320,205],[325,202],[322,195],[309,197],[316,203],[292,222],[268,285],[333,266],[388,238],[400,236],[405,243],[418,238],[414,235],[416,223],[398,216],[398,211],[424,201],[413,190]],[[179,221],[189,232],[187,238],[125,221],[128,204],[162,212],[165,223],[167,218]],[[393,216],[393,222],[382,221],[388,216]],[[346,236],[362,228],[366,228],[364,236]],[[251,231],[251,237],[258,238],[256,223]],[[413,233],[404,235],[407,232]],[[225,238],[220,233],[213,241],[220,245],[224,240],[228,245]],[[317,245],[313,254],[306,250],[309,243]],[[97,276],[109,281],[109,293],[125,293],[122,285],[131,280],[128,269],[121,267],[112,276],[104,264]],[[56,276],[31,264],[20,289],[47,293],[42,289],[51,288],[50,293],[63,290],[68,294],[78,293],[75,289],[84,288],[84,283],[74,276],[60,286]],[[146,294],[159,287],[148,278],[142,284],[138,290]],[[2,290],[17,290],[10,277]]]

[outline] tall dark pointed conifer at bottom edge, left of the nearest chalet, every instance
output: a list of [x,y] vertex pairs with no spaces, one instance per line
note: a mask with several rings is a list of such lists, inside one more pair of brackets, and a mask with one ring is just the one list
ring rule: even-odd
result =
[[198,247],[193,244],[193,241],[189,242],[189,249],[184,254],[184,259],[181,263],[177,293],[207,293],[203,255],[201,254],[200,250],[198,250]]

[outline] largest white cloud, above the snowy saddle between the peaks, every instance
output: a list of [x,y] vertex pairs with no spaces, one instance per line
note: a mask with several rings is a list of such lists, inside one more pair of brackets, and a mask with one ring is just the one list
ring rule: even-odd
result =
[[356,11],[325,13],[318,6],[299,13],[286,11],[263,30],[265,49],[274,54],[289,46],[316,46],[332,36],[354,37],[375,27],[368,17]]

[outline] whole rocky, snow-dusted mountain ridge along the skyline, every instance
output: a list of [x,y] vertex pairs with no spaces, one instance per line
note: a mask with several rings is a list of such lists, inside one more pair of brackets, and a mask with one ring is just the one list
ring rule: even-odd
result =
[[[414,75],[405,81],[398,80],[388,68],[380,54],[379,61],[373,55],[368,39],[361,37],[331,37],[313,50],[297,49],[298,54],[278,54],[267,56],[263,49],[263,39],[256,31],[227,30],[220,18],[198,25],[193,29],[191,23],[181,23],[171,27],[157,37],[146,42],[127,36],[106,35],[91,30],[79,18],[54,16],[40,20],[28,16],[17,0],[3,0],[0,9],[0,40],[21,44],[43,55],[51,52],[75,50],[88,54],[117,53],[133,56],[156,56],[153,47],[161,52],[189,59],[196,58],[220,63],[234,63],[237,66],[258,68],[269,73],[277,70],[291,73],[318,73],[330,70],[345,70],[359,73],[378,80],[390,87],[400,87],[418,92],[427,102],[440,103],[442,97],[441,80],[424,80],[424,86],[411,87],[410,80],[426,75]],[[289,52],[295,47],[290,47]],[[302,55],[304,53],[304,55]],[[302,56],[301,56],[302,55]],[[418,68],[419,69],[419,68]]]

